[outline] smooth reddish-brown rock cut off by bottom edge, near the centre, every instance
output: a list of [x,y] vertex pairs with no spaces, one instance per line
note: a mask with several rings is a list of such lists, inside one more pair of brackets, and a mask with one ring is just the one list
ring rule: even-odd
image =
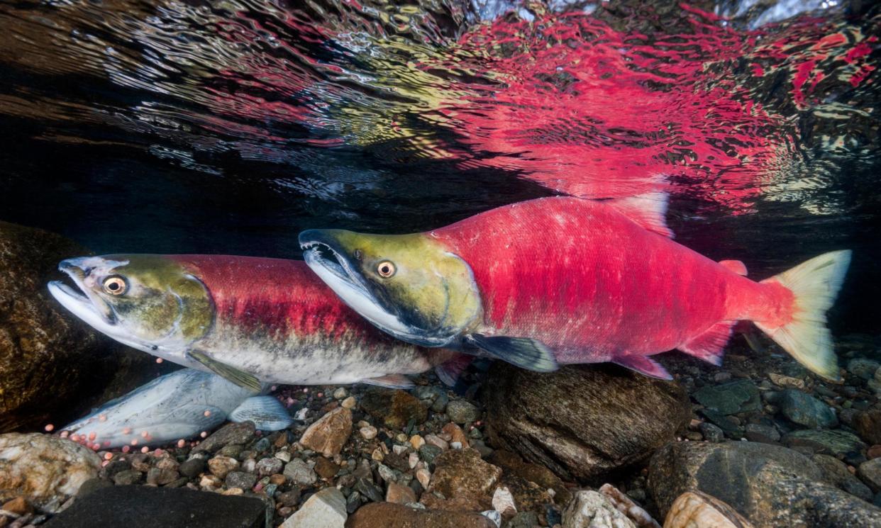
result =
[[392,502],[371,502],[359,508],[345,528],[495,528],[479,513],[416,510]]

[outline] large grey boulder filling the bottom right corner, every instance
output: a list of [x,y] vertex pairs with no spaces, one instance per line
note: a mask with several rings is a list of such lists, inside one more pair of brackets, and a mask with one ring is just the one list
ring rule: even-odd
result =
[[648,487],[666,515],[698,490],[729,504],[756,526],[875,526],[881,509],[825,482],[810,458],[752,442],[670,443],[652,457]]

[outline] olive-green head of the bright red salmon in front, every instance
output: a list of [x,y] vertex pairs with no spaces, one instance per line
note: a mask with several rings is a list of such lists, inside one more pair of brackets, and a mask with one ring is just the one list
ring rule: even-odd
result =
[[425,233],[300,233],[304,258],[343,301],[374,326],[426,347],[455,345],[482,320],[471,268]]

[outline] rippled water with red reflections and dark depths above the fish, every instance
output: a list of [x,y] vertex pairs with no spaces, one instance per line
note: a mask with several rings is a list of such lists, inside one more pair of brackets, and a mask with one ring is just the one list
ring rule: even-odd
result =
[[837,326],[877,331],[881,11],[752,4],[0,4],[0,219],[297,257],[310,227],[660,189],[753,276],[854,248]]

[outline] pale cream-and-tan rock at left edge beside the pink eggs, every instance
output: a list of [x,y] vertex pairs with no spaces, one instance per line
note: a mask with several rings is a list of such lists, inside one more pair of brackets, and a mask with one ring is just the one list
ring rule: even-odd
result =
[[101,460],[87,447],[40,433],[0,435],[0,503],[24,495],[56,512],[98,476]]

